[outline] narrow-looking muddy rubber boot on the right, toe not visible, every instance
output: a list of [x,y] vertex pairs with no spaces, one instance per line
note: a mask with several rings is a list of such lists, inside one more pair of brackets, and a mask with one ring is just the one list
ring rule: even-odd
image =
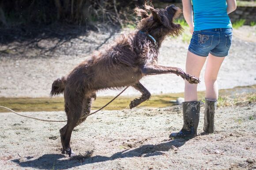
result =
[[215,130],[214,127],[214,115],[217,108],[217,99],[208,100],[205,98],[205,110],[204,110],[204,123],[203,131],[212,134]]

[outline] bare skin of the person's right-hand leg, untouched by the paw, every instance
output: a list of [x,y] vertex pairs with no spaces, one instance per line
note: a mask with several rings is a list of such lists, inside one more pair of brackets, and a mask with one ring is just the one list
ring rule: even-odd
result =
[[212,54],[209,54],[204,74],[206,98],[209,100],[218,99],[217,76],[224,58],[225,57],[216,57]]

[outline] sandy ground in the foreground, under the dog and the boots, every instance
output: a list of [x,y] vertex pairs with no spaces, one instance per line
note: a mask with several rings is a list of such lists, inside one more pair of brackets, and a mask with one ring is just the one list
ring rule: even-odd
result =
[[[169,140],[182,126],[180,106],[102,111],[72,134],[77,154],[60,154],[58,130],[64,123],[45,123],[0,113],[1,169],[256,169],[256,105],[217,110],[215,134]],[[203,132],[201,107],[198,133]],[[65,119],[64,112],[23,112]],[[252,119],[254,117],[254,119]]]

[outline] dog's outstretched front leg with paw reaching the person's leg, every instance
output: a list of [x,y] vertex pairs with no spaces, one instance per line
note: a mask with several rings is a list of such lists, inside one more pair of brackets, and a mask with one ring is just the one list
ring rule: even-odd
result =
[[182,69],[177,67],[166,67],[162,65],[143,65],[141,67],[141,72],[145,76],[173,73],[173,74],[176,74],[177,76],[181,76],[183,79],[187,80],[188,83],[191,83],[191,84],[200,83],[200,80],[198,77],[187,74]]

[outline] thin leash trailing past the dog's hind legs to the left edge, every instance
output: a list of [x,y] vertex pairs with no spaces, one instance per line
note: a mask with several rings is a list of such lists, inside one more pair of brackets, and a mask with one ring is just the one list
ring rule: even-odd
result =
[[[107,104],[105,104],[104,106],[102,106],[100,109],[96,110],[95,112],[92,112],[86,116],[83,116],[81,117],[80,119],[84,119],[90,115],[93,115],[99,111],[101,111],[102,109],[104,109],[107,105],[109,105],[111,102],[113,102],[116,98],[118,98],[118,96],[120,96],[129,86],[125,87],[124,90],[122,90],[119,94],[117,94],[116,97],[114,97],[111,101],[109,101]],[[15,113],[16,115],[19,115],[19,116],[23,116],[23,117],[26,117],[26,118],[30,118],[30,119],[36,119],[36,120],[41,120],[41,121],[45,121],[45,122],[67,122],[67,120],[47,120],[47,119],[41,119],[41,118],[36,118],[36,117],[31,117],[31,116],[25,116],[25,115],[22,115],[22,114],[19,114],[15,111],[13,111],[12,109],[10,108],[7,108],[7,107],[4,107],[4,106],[0,106],[0,108],[3,108],[3,109],[7,109],[13,113]]]

